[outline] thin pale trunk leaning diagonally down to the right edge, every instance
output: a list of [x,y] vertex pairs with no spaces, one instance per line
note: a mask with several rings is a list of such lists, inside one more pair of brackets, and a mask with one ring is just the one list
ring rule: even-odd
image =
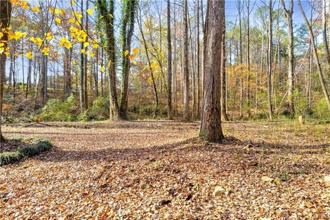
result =
[[303,7],[301,6],[300,0],[298,0],[298,5],[299,5],[300,12],[303,15],[303,19],[304,19],[304,21],[307,25],[307,29],[309,31],[309,37],[311,39],[311,47],[312,47],[312,50],[314,52],[316,67],[318,67],[318,77],[320,78],[320,84],[322,86],[323,94],[325,95],[325,100],[327,101],[328,109],[330,111],[329,92],[327,90],[327,86],[325,85],[325,78],[324,78],[323,73],[322,73],[322,68],[321,68],[321,65],[320,65],[320,58],[318,58],[318,51],[317,51],[317,48],[316,48],[316,45],[315,45],[314,33],[313,33],[313,30],[311,29],[311,24],[307,20],[307,17],[306,17],[306,14],[305,14],[304,10],[303,10]]

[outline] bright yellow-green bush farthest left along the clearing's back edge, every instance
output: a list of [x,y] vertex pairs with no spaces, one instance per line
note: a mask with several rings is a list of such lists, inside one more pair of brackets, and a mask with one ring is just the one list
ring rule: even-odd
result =
[[70,122],[75,120],[72,114],[76,109],[76,99],[74,96],[69,96],[65,102],[58,99],[51,99],[41,109],[40,118],[43,121]]

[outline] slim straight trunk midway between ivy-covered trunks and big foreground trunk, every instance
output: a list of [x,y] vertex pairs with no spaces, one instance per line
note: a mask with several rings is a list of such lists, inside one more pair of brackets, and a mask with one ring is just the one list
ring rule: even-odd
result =
[[[162,36],[161,36],[162,38]],[[167,0],[167,108],[168,119],[173,120],[172,110],[172,47],[170,45],[170,0]]]

